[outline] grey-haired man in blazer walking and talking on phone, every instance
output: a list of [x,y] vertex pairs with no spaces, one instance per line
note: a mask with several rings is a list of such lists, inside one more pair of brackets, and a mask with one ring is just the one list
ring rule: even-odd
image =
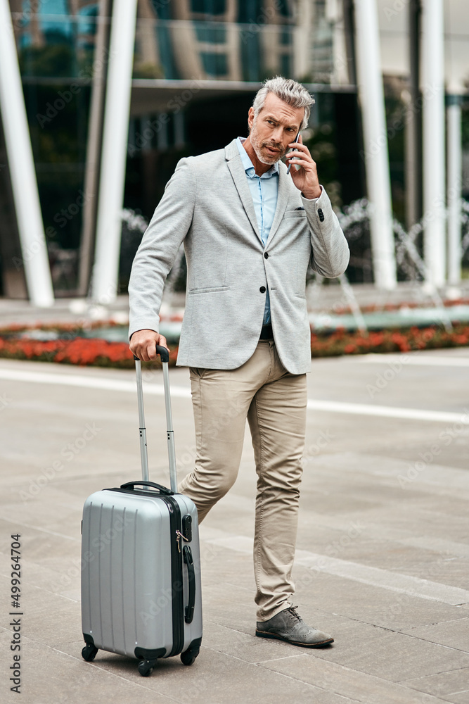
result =
[[[179,161],[136,253],[131,351],[155,359],[162,291],[182,241],[186,311],[177,364],[190,367],[197,458],[179,485],[202,521],[236,480],[248,419],[257,471],[256,635],[317,648],[333,638],[291,603],[307,382],[307,267],[345,271],[349,250],[299,137],[314,100],[265,82],[247,139]],[[288,150],[293,151],[288,151]],[[288,152],[290,173],[280,159]]]

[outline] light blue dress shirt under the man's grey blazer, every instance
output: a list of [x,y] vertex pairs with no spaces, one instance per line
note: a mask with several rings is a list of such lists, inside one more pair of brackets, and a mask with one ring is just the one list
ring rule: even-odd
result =
[[[241,161],[248,179],[249,189],[251,191],[252,203],[257,218],[257,228],[262,239],[262,244],[266,246],[269,232],[274,222],[275,210],[277,207],[278,196],[278,163],[262,176],[258,176],[252,161],[248,156],[248,152],[243,147],[245,138],[238,137],[236,144],[238,145]],[[264,308],[264,320],[262,325],[268,325],[270,321],[270,297],[269,287],[266,290],[266,305]]]

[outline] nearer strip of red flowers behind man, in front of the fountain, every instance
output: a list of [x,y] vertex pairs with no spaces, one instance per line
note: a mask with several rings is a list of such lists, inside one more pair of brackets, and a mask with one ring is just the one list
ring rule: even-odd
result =
[[[55,330],[60,337],[38,340],[25,337],[25,328],[10,327],[0,330],[0,358],[37,360],[81,366],[131,369],[134,358],[127,342],[108,342],[98,338],[75,337],[72,326],[36,326],[35,329]],[[21,334],[22,337],[18,337]],[[442,327],[410,327],[371,332],[311,333],[311,356],[331,357],[368,352],[409,352],[412,350],[469,346],[469,325],[454,325],[451,331]],[[176,364],[177,346],[169,345],[169,365]],[[147,367],[161,366],[160,358],[145,363]]]

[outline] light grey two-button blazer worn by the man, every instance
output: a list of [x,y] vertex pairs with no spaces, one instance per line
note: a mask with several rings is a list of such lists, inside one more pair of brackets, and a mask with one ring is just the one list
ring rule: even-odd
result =
[[259,341],[268,286],[281,361],[292,374],[310,370],[307,268],[336,277],[347,268],[349,248],[326,191],[308,201],[285,165],[279,168],[264,250],[236,140],[179,161],[132,266],[130,335],[158,332],[163,286],[184,241],[187,294],[177,364],[236,369],[245,363]]

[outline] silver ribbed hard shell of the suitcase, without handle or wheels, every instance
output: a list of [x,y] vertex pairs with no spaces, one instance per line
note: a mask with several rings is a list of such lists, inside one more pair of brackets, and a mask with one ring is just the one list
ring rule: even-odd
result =
[[[152,496],[153,494],[153,496]],[[131,657],[147,657],[145,651],[161,651],[169,657],[185,651],[202,638],[200,548],[198,515],[193,501],[182,494],[172,500],[181,517],[192,517],[191,547],[195,571],[193,620],[186,623],[188,570],[182,565],[180,584],[172,580],[171,535],[168,501],[155,491],[104,489],[86,500],[82,524],[82,629],[96,648]],[[181,526],[179,526],[179,531]],[[176,548],[177,550],[177,548]],[[173,572],[174,574],[174,572]],[[183,606],[184,605],[184,606]],[[183,608],[181,608],[183,607]],[[173,633],[178,630],[179,641]],[[175,626],[175,627],[174,627]]]

